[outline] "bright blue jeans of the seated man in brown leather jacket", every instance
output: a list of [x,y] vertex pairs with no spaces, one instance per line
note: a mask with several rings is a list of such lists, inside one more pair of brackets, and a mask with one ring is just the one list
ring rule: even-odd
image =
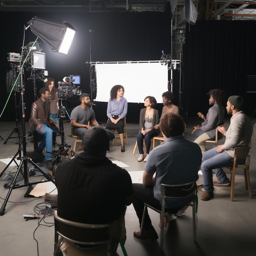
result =
[[[38,134],[43,135],[43,139],[40,142],[38,149],[43,151],[43,149],[45,148],[46,153],[45,153],[45,161],[47,160],[52,160],[52,132],[53,130],[51,128],[49,128],[46,124],[41,123],[43,126],[43,132],[42,129],[37,131]],[[35,131],[36,131],[37,126],[35,127]]]

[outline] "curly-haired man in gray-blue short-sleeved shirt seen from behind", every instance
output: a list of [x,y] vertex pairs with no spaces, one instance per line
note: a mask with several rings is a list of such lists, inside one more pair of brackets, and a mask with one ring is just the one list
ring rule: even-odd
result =
[[[198,170],[202,162],[202,153],[198,144],[184,138],[185,123],[180,115],[172,112],[165,114],[160,122],[160,130],[165,141],[154,148],[148,155],[144,167],[143,184],[133,184],[134,200],[132,202],[141,224],[144,202],[161,210],[160,184],[182,184],[198,179]],[[177,213],[188,200],[168,199],[166,207]],[[139,239],[156,240],[158,238],[151,220],[146,213],[144,232],[135,231]]]

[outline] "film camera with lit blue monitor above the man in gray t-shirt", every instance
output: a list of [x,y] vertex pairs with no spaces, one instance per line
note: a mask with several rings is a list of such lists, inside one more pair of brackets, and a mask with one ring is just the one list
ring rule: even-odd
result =
[[58,82],[58,98],[69,98],[81,95],[80,76],[65,76],[63,82]]

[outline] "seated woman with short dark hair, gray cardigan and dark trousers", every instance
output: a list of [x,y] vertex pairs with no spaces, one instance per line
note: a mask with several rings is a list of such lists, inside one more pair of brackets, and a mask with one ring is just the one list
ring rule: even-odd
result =
[[147,162],[150,146],[151,146],[151,139],[154,136],[157,136],[159,130],[155,130],[154,126],[159,122],[159,112],[155,109],[157,106],[157,101],[155,97],[147,96],[144,99],[144,106],[140,110],[139,114],[139,133],[137,135],[137,143],[139,148],[140,156],[138,161],[142,161],[144,158],[144,151],[143,151],[143,139],[145,140],[146,145],[146,158],[144,162]]

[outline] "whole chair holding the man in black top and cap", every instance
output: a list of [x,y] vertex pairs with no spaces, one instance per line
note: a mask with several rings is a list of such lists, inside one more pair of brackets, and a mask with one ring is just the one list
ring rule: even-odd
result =
[[[97,249],[105,245],[107,256],[115,256],[114,250],[117,244],[110,241],[111,229],[117,225],[117,221],[107,224],[86,224],[67,220],[58,216],[54,210],[54,255],[60,250],[60,244],[65,238],[74,245],[84,245],[87,249]],[[114,227],[115,228],[115,227]],[[61,239],[59,240],[59,236]],[[123,252],[126,253],[124,245],[120,242]],[[105,251],[105,249],[103,249]],[[97,252],[95,252],[97,253]],[[125,254],[126,255],[126,254]]]

